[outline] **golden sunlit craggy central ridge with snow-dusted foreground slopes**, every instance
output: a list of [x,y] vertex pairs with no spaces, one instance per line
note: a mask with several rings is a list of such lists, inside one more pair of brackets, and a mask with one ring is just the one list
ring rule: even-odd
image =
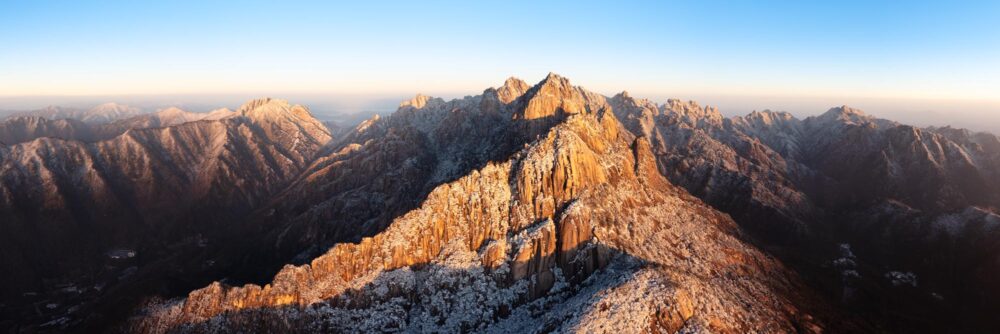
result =
[[[821,320],[830,310],[793,273],[740,241],[728,216],[661,176],[648,140],[625,131],[604,98],[556,75],[524,86],[508,80],[452,102],[418,96],[359,131],[383,131],[378,138],[411,131],[400,135],[437,150],[430,166],[438,169],[425,176],[450,180],[384,231],[286,266],[264,286],[213,283],[153,303],[124,330],[812,332],[832,325]],[[505,90],[523,93],[505,103]],[[457,143],[441,131],[463,128],[453,124],[468,124],[469,114],[494,116],[486,124],[509,135],[463,143],[512,151],[455,177],[447,161]],[[516,145],[498,146],[497,138]],[[352,150],[365,154],[384,140]],[[304,180],[326,178],[329,166],[314,164]]]

